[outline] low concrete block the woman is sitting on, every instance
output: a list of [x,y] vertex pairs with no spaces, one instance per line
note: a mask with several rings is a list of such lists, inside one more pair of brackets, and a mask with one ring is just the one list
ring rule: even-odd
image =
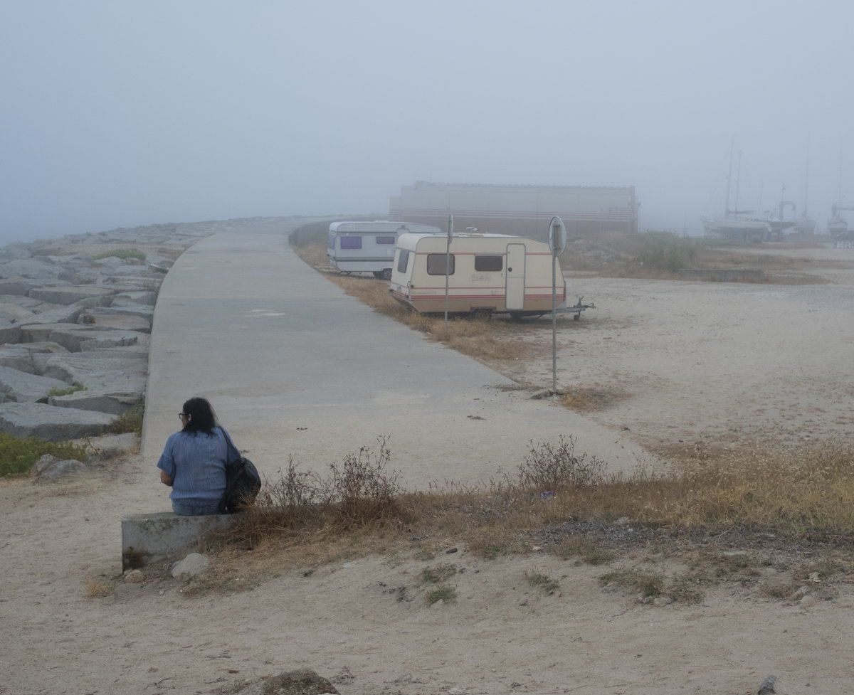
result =
[[121,517],[121,569],[137,569],[194,547],[208,531],[227,529],[233,517],[180,517],[172,511]]

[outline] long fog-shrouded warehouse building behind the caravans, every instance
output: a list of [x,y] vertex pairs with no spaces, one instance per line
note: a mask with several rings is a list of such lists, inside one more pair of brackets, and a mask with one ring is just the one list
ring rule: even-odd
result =
[[548,237],[554,215],[564,220],[568,237],[592,237],[605,231],[638,231],[635,186],[527,186],[433,184],[401,186],[389,201],[389,219],[421,222],[447,230]]

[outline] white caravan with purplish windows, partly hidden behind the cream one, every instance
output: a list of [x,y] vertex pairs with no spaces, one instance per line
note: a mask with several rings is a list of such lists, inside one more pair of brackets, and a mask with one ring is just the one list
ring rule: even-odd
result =
[[330,266],[339,271],[372,272],[383,280],[391,278],[395,245],[401,234],[442,234],[438,227],[412,222],[333,222],[329,225]]

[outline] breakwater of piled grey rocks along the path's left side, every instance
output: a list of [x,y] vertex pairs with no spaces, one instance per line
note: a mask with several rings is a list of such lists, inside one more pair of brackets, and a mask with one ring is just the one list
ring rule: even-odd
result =
[[152,225],[0,248],[0,431],[101,435],[144,403],[161,282],[228,225]]

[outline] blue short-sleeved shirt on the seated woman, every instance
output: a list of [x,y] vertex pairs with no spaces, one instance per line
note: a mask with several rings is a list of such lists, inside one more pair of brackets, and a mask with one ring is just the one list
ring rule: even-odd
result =
[[223,430],[186,432],[183,429],[166,441],[157,468],[172,478],[169,497],[191,505],[219,502],[225,492],[225,458],[228,444]]

